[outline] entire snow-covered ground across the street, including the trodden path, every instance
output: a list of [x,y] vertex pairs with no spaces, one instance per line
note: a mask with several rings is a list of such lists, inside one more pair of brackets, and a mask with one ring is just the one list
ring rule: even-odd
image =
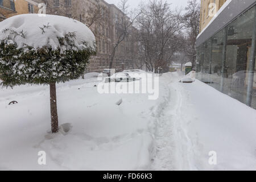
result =
[[[1,89],[0,169],[255,170],[255,110],[180,78],[160,77],[158,100],[99,94],[94,77],[58,84],[57,134],[47,133],[48,86]],[[8,105],[13,100],[18,104]],[[46,166],[38,164],[39,151]],[[217,165],[208,163],[210,151]]]

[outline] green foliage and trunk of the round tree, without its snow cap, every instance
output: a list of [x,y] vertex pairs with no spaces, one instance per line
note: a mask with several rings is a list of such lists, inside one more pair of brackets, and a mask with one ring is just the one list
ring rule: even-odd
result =
[[[49,27],[51,24],[48,23],[36,28],[40,28],[42,34],[46,34]],[[5,34],[5,39],[0,40],[2,86],[12,88],[22,84],[49,85],[51,129],[52,133],[56,133],[59,127],[56,83],[77,79],[83,75],[90,56],[96,54],[95,48],[88,46],[88,42],[85,41],[82,41],[82,46],[77,47],[76,32],[68,32],[64,36],[56,37],[59,42],[57,47],[52,47],[49,43],[42,47],[32,47],[25,43],[20,46],[20,39],[27,38],[24,30],[5,28],[0,34]]]

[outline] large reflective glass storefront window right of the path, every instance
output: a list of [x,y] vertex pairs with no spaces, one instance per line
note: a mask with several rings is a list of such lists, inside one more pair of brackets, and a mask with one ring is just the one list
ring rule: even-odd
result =
[[[197,47],[197,78],[243,103],[249,85],[255,10],[252,7]],[[253,81],[251,106],[256,109],[256,73]]]

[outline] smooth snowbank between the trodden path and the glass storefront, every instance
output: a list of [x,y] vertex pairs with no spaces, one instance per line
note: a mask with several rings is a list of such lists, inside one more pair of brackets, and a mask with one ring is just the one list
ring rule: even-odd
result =
[[[180,148],[188,156],[182,169],[255,170],[256,111],[198,80],[172,86],[182,97],[176,121],[184,133],[179,145],[187,146]],[[212,151],[216,165],[209,163]]]

